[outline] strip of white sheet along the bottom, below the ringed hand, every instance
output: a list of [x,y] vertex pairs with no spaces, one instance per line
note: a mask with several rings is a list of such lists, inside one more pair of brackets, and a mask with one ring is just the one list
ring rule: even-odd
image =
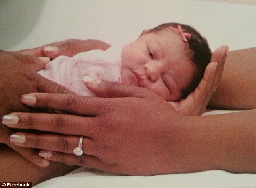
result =
[[157,176],[116,176],[85,170],[53,178],[35,188],[255,188],[255,174],[232,174],[222,170]]

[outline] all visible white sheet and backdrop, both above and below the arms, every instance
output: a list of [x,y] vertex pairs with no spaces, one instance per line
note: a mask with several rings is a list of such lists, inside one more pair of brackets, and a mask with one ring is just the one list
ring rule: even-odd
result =
[[[212,50],[222,44],[230,50],[256,46],[256,9],[252,5],[194,0],[1,0],[0,49],[32,48],[68,38],[120,45],[163,22],[193,25]],[[222,112],[229,111],[206,114]],[[206,171],[143,177],[79,168],[35,187],[256,188],[256,175]]]

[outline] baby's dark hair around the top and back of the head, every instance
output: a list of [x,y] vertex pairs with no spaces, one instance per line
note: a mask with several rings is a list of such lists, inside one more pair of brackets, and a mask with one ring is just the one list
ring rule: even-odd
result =
[[193,54],[191,55],[190,59],[197,66],[197,73],[195,74],[193,80],[191,81],[190,86],[182,92],[181,98],[186,98],[198,86],[199,82],[204,76],[206,66],[210,63],[212,52],[210,50],[207,40],[204,37],[202,37],[201,34],[193,27],[180,23],[164,23],[153,29],[148,30],[147,33],[166,29],[170,26],[178,28],[178,25],[182,27],[185,33],[191,34],[191,37],[186,38],[189,44],[189,48],[193,51]]

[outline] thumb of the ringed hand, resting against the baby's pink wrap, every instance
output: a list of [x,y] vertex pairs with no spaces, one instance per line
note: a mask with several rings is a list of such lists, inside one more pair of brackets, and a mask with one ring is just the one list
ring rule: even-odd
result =
[[127,86],[92,76],[84,76],[83,82],[89,90],[100,97],[146,97],[155,94],[146,88]]

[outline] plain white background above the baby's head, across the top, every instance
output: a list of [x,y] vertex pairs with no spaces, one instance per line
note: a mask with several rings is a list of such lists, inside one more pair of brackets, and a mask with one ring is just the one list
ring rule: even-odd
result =
[[230,50],[255,47],[252,4],[256,0],[233,1],[251,5],[194,0],[1,0],[0,49],[32,48],[68,38],[128,43],[143,29],[164,22],[192,25],[212,50],[222,44]]

